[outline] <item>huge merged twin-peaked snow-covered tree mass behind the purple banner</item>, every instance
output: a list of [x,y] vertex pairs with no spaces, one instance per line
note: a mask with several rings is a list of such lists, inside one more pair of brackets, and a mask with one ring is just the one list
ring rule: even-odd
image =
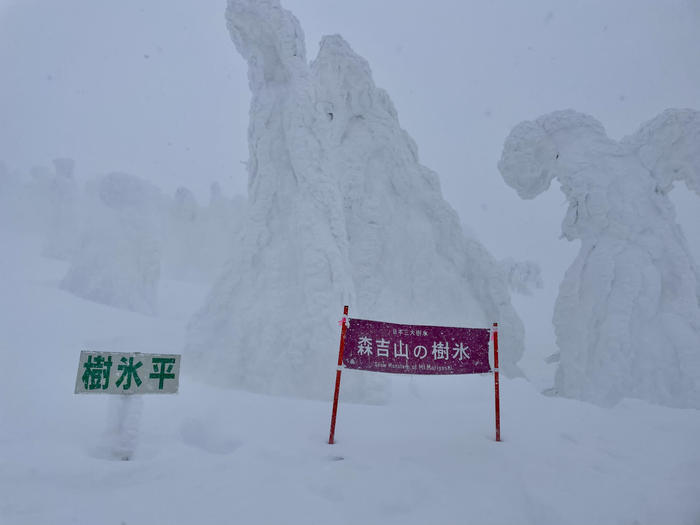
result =
[[[351,317],[394,322],[498,321],[501,366],[519,374],[523,327],[505,272],[464,236],[367,62],[328,36],[309,64],[277,0],[230,0],[226,18],[252,92],[249,217],[190,323],[191,366],[222,384],[327,398],[348,304]],[[382,398],[379,377],[348,376],[344,396]]]

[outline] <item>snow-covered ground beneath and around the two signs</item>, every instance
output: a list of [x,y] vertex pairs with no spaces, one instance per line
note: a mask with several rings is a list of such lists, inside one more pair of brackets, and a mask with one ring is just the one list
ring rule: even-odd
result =
[[[163,281],[156,317],[58,288],[67,263],[0,233],[0,523],[697,524],[700,412],[603,409],[490,376],[392,377],[383,406],[205,386],[145,398],[133,461],[112,402],[76,396],[84,348],[179,352],[206,287]],[[546,366],[546,365],[543,365]],[[346,372],[348,374],[349,372]],[[544,375],[544,372],[542,372]],[[329,378],[329,385],[332,378]]]

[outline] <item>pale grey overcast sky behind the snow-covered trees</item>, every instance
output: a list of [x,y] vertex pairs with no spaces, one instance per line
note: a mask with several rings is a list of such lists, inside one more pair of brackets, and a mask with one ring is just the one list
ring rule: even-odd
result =
[[[422,162],[498,257],[535,259],[548,289],[578,249],[558,187],[521,201],[496,169],[519,121],[573,108],[613,138],[668,107],[700,109],[700,1],[283,0],[312,59],[339,33],[392,97]],[[200,199],[244,193],[249,93],[221,0],[0,0],[0,159],[73,157]],[[9,7],[8,7],[9,6]],[[674,190],[700,260],[700,201]],[[552,284],[554,283],[554,284]]]

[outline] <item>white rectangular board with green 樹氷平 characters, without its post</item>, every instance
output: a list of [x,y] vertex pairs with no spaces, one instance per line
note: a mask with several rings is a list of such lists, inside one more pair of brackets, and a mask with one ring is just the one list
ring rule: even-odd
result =
[[80,352],[76,394],[175,394],[180,356],[139,352]]

